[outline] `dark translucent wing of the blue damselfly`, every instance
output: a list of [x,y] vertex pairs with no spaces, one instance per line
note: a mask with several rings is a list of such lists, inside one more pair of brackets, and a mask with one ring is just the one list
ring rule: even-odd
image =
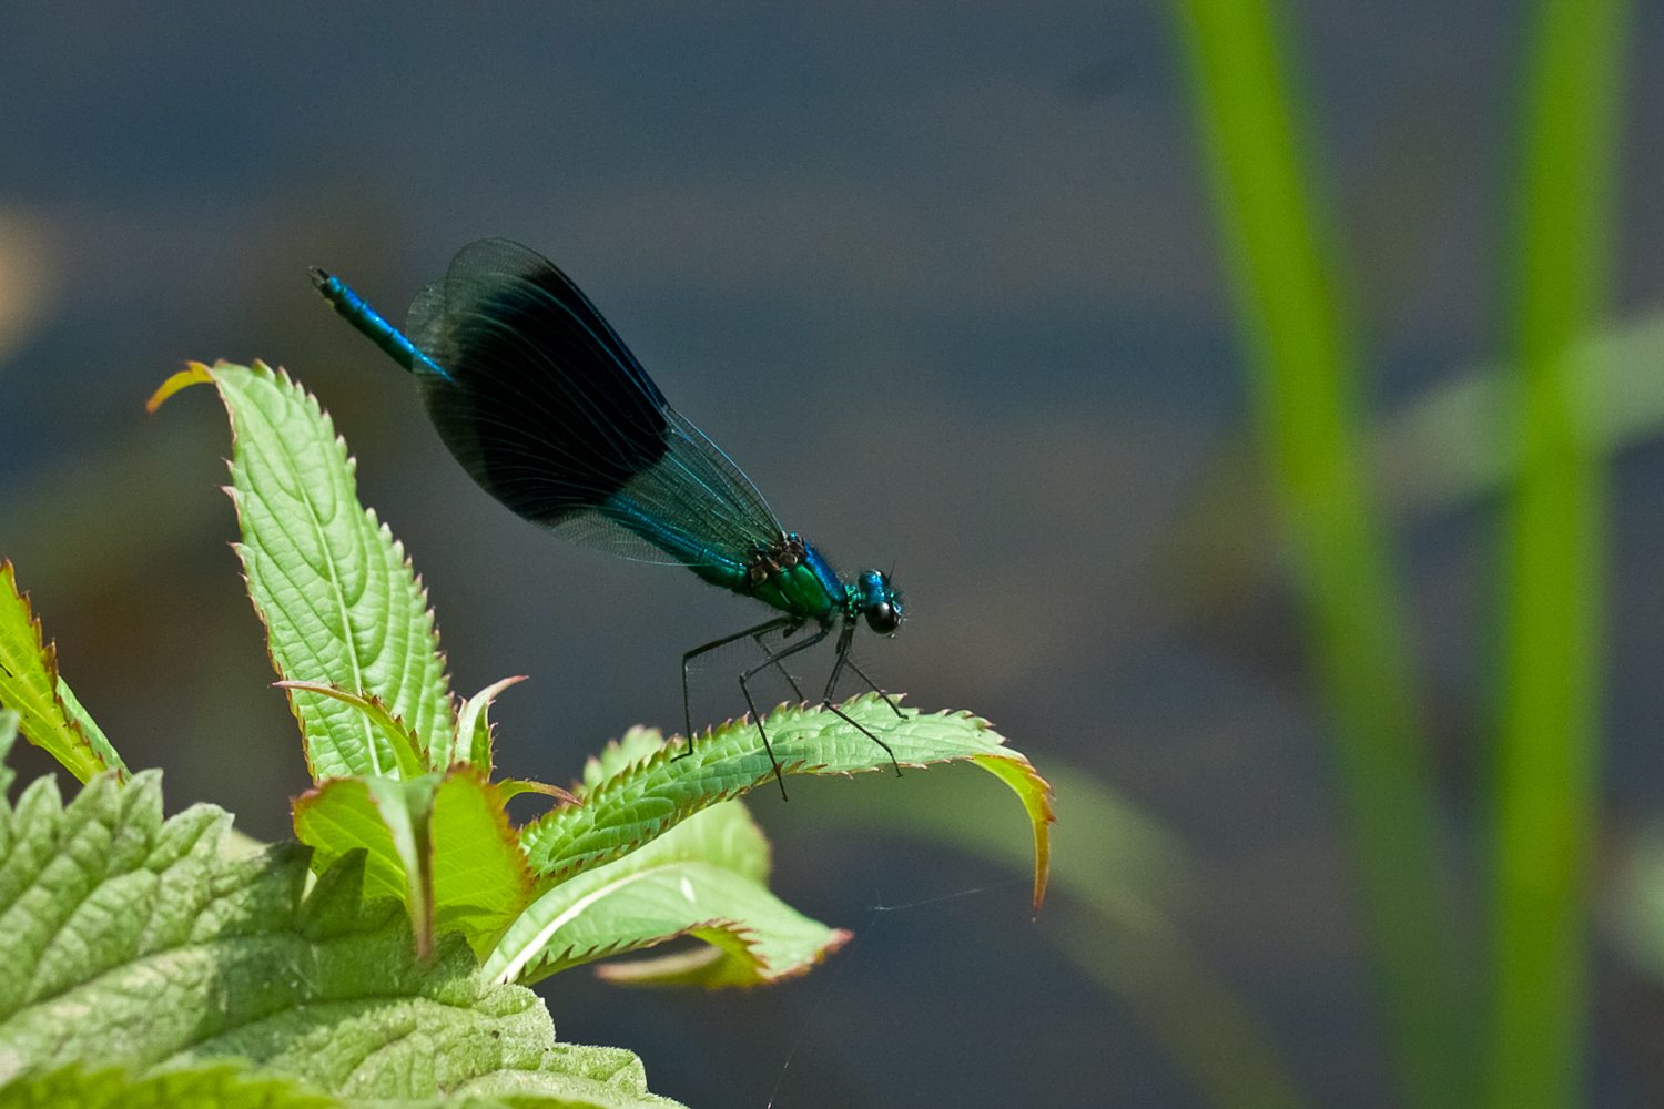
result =
[[439,437],[516,514],[647,562],[744,565],[780,525],[554,263],[469,243],[411,304],[408,334]]

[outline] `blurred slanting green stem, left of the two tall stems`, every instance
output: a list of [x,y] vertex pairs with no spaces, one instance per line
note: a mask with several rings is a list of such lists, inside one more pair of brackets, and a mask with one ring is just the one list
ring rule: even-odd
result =
[[1176,0],[1263,449],[1335,735],[1404,1102],[1463,1106],[1466,991],[1406,610],[1368,487],[1356,356],[1320,241],[1271,0]]

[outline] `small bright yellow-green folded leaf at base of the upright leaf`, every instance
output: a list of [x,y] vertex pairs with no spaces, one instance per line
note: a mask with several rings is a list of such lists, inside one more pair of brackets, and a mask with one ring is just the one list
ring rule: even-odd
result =
[[503,796],[471,766],[443,780],[333,778],[295,801],[295,835],[316,850],[314,870],[368,851],[366,896],[409,906],[419,946],[424,931],[461,931],[484,958],[531,901]]

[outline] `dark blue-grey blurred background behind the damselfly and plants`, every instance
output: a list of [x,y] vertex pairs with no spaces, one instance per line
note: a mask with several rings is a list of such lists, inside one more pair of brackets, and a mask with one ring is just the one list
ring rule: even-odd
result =
[[[1476,429],[1509,349],[1531,12],[1288,22],[1458,933],[1488,896],[1506,467]],[[1664,3],[1634,5],[1626,50],[1601,1106],[1664,1102]],[[226,545],[225,414],[210,391],[143,412],[185,359],[286,366],[331,411],[456,687],[531,675],[494,710],[508,775],[679,728],[681,653],[760,619],[509,515],[306,279],[401,321],[461,244],[509,236],[787,527],[845,572],[894,565],[909,622],[862,635],[862,665],[990,718],[1062,818],[1030,921],[998,786],[760,791],[777,891],[855,944],[747,994],[567,971],[539,986],[564,1039],[639,1052],[689,1106],[1403,1104],[1166,7],[8,3],[0,151],[0,554],[175,811],[281,838],[308,785]],[[706,665],[696,723],[740,712],[744,662]]]

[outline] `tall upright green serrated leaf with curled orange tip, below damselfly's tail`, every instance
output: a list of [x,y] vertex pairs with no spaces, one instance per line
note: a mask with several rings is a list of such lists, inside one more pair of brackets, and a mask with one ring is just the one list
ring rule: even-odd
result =
[[[329,416],[261,362],[195,362],[151,407],[198,381],[215,384],[231,416],[236,550],[278,673],[374,697],[423,752],[448,750],[454,718],[426,590],[404,547],[359,507]],[[351,705],[313,690],[291,690],[290,703],[314,781],[399,766],[393,742]]]

